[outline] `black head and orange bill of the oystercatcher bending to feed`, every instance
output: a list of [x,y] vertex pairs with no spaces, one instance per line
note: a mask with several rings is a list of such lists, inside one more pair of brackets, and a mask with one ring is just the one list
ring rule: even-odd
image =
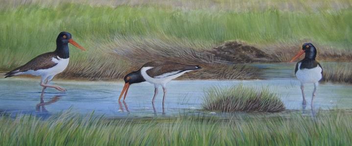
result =
[[123,100],[125,100],[128,88],[130,87],[130,84],[132,84],[132,83],[141,83],[141,82],[145,81],[143,76],[141,75],[141,70],[134,71],[134,72],[131,72],[131,73],[127,74],[123,78],[123,80],[125,80],[125,85],[123,86],[123,89],[121,91],[120,97],[118,97],[118,101],[120,101],[123,93],[125,93],[125,95],[123,97]]

